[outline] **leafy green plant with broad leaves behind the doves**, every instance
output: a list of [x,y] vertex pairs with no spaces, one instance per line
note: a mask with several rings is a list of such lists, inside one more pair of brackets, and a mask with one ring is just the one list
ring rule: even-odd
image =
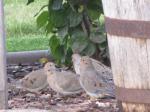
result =
[[52,34],[49,46],[58,64],[71,65],[73,52],[107,58],[101,0],[49,0],[45,6],[48,9],[38,13],[37,26]]

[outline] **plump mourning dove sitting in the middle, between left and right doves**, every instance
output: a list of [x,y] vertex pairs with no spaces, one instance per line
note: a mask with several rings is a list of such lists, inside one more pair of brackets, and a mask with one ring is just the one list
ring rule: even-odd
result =
[[83,91],[78,77],[70,71],[57,71],[54,63],[47,63],[44,67],[47,74],[47,82],[57,93],[63,95],[77,94]]

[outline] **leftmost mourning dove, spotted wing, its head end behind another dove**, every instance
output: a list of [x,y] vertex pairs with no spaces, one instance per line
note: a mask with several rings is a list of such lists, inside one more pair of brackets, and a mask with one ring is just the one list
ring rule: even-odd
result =
[[47,76],[44,69],[30,72],[23,79],[21,79],[21,86],[30,92],[38,93],[40,90],[48,86]]

